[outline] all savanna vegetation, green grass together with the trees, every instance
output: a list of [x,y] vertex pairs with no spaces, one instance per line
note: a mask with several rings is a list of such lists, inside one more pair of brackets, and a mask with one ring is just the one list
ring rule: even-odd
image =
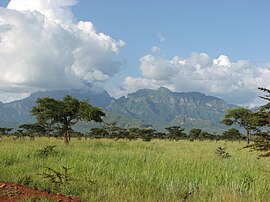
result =
[[[270,90],[260,90],[270,103]],[[82,134],[71,126],[102,122],[99,108],[70,96],[39,99],[36,123],[0,129],[0,180],[83,201],[268,201],[270,161],[262,157],[270,156],[269,103],[226,113],[222,123],[242,127],[245,136],[235,128],[161,133],[117,123]]]

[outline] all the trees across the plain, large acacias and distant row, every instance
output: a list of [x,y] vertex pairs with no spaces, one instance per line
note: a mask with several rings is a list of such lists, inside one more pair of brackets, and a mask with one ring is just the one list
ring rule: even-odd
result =
[[[252,111],[243,107],[229,109],[221,123],[231,126],[238,125],[246,131],[246,141],[248,147],[255,150],[265,151],[266,156],[270,156],[270,90],[259,88],[267,93],[261,96],[268,103]],[[31,114],[36,117],[37,122],[33,124],[22,124],[13,133],[16,136],[62,136],[65,144],[70,141],[70,134],[83,136],[76,133],[72,126],[78,121],[103,122],[105,113],[97,107],[89,104],[87,100],[78,101],[67,95],[62,100],[45,97],[38,98],[36,106],[31,110]],[[122,128],[117,123],[104,123],[103,127],[91,128],[88,136],[92,138],[113,138],[113,139],[138,139],[150,141],[151,139],[168,140],[242,140],[244,136],[235,128],[228,129],[222,135],[211,134],[199,128],[193,128],[185,133],[181,126],[171,126],[166,129],[166,133],[156,131],[154,128]],[[0,128],[1,135],[11,134],[12,128]],[[250,144],[251,135],[255,139]]]

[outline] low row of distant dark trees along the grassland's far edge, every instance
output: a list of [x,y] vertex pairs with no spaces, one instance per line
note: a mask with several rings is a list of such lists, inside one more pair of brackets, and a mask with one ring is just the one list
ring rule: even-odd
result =
[[[7,130],[9,132],[7,132]],[[14,136],[17,138],[29,137],[34,140],[35,137],[47,136],[47,137],[63,137],[63,131],[61,128],[47,128],[39,123],[34,124],[22,124],[18,130],[11,133],[12,128],[0,128],[0,135]],[[4,131],[4,132],[2,132]],[[76,132],[69,129],[69,136],[78,138],[108,138],[108,139],[128,139],[136,140],[142,139],[143,141],[151,141],[152,139],[162,139],[162,140],[226,140],[226,141],[240,141],[244,139],[243,134],[239,130],[231,128],[223,132],[222,135],[217,135],[216,133],[209,133],[203,131],[199,128],[193,128],[189,132],[185,132],[185,129],[181,126],[171,126],[166,128],[166,132],[158,132],[154,128],[122,128],[114,123],[104,123],[103,127],[91,128],[90,132],[85,134],[81,132]]]

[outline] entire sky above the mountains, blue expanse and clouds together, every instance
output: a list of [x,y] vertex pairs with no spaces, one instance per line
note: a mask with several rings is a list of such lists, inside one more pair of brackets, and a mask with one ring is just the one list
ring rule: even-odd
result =
[[258,105],[269,19],[269,0],[0,0],[0,101],[91,84]]

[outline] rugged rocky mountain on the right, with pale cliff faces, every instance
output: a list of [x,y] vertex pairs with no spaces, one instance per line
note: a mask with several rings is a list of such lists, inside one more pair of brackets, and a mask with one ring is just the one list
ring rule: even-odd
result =
[[223,128],[219,122],[226,110],[234,107],[237,106],[199,92],[178,93],[161,87],[113,99],[106,110],[143,121],[158,130],[172,125],[217,130]]

